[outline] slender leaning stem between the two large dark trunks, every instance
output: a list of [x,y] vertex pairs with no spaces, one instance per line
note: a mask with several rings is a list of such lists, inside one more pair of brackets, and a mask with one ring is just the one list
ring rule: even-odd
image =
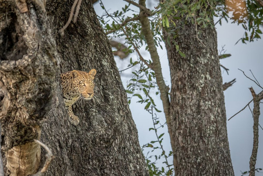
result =
[[[145,5],[145,0],[139,0],[139,5],[141,6],[146,6]],[[146,43],[148,45],[149,48],[149,52],[150,52],[150,56],[151,59],[153,61],[153,70],[156,76],[156,82],[157,85],[159,87],[160,90],[160,94],[161,94],[161,100],[162,100],[162,104],[163,104],[163,109],[164,109],[164,113],[165,113],[165,118],[166,118],[166,122],[167,122],[167,126],[168,126],[168,132],[170,135],[170,140],[171,140],[171,146],[172,146],[172,151],[175,154],[174,150],[175,150],[175,141],[173,139],[173,135],[172,135],[172,125],[171,125],[171,120],[170,120],[170,101],[169,101],[169,96],[168,96],[168,86],[165,85],[165,81],[162,75],[162,71],[161,71],[161,63],[160,63],[160,58],[159,55],[157,53],[157,49],[154,43],[154,38],[153,38],[153,34],[151,31],[151,27],[150,27],[150,22],[148,20],[148,18],[146,16],[144,16],[144,9],[145,8],[140,8],[140,21],[142,24],[142,33],[145,36],[146,39]],[[174,165],[176,165],[176,160],[175,160],[175,155],[173,155],[174,157]],[[175,168],[176,169],[176,168]]]

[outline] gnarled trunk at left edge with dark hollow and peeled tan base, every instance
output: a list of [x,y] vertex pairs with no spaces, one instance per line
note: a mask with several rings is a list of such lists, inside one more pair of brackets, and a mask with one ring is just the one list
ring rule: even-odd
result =
[[0,31],[2,151],[10,175],[33,174],[40,145],[32,140],[51,108],[58,63],[43,1],[0,1]]

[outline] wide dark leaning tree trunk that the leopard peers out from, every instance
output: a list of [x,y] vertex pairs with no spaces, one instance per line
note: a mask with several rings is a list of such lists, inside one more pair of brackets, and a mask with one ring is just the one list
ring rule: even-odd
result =
[[[58,32],[69,17],[72,4],[73,0],[50,0],[46,5],[61,59],[52,107],[41,126],[40,140],[56,157],[46,175],[149,175],[110,43],[92,2],[83,0],[77,23],[71,23],[64,35]],[[45,16],[35,15],[39,19]],[[73,105],[80,118],[75,127],[68,121],[59,75],[74,69],[88,72],[92,68],[97,70],[94,100]],[[40,166],[45,153],[42,150]]]

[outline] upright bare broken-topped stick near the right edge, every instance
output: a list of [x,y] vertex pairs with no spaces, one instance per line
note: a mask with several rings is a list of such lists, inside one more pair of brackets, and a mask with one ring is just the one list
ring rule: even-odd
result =
[[256,95],[254,89],[252,87],[249,88],[250,92],[253,96],[253,102],[254,102],[254,108],[253,108],[253,114],[254,114],[254,125],[253,125],[253,149],[252,154],[249,161],[249,167],[250,167],[250,176],[255,176],[255,164],[257,160],[257,149],[258,149],[258,118],[260,115],[260,107],[259,107],[259,101],[263,98],[262,95]]

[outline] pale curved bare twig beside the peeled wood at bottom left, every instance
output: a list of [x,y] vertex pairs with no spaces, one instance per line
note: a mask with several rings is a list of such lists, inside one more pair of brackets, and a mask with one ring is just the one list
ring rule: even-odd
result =
[[42,142],[40,142],[39,140],[34,140],[36,143],[40,144],[42,147],[44,147],[47,151],[46,154],[46,162],[43,166],[43,168],[37,172],[36,174],[34,174],[33,176],[44,176],[45,172],[47,171],[48,166],[50,165],[50,163],[54,160],[55,156],[52,154],[52,152],[50,151],[50,149],[43,144]]

